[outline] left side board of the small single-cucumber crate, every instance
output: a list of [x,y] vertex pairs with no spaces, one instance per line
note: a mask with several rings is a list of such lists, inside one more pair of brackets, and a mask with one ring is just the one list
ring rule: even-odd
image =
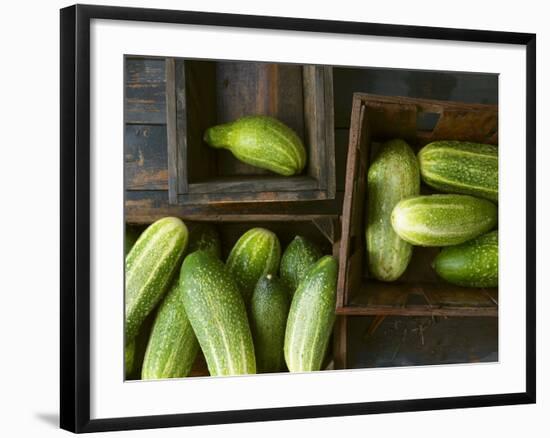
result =
[[[166,114],[168,114],[166,124],[166,139],[168,142],[168,200],[171,204],[178,201],[178,178],[181,174],[178,172],[178,123],[176,120],[176,60],[166,58]],[[184,149],[185,146],[183,146]]]

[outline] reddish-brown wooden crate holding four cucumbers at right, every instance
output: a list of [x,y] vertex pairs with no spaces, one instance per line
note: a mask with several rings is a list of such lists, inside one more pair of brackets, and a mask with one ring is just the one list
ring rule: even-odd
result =
[[[342,212],[338,314],[498,315],[496,288],[457,287],[437,277],[431,267],[437,248],[415,247],[409,267],[396,282],[369,278],[364,237],[366,175],[381,142],[403,138],[418,151],[435,140],[497,144],[497,136],[497,106],[354,95]],[[422,190],[432,193],[426,187]]]

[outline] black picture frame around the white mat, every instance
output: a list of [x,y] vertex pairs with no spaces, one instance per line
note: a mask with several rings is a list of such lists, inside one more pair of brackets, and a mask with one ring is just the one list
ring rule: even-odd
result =
[[[526,47],[526,391],[509,394],[300,406],[129,418],[90,419],[90,22],[183,23],[385,37],[487,42]],[[376,23],[325,21],[75,5],[61,10],[61,348],[60,426],[81,432],[193,426],[535,403],[536,401],[536,35]]]

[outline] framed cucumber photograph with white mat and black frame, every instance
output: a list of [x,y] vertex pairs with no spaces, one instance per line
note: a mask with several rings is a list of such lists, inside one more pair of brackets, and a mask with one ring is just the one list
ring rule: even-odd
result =
[[61,10],[61,427],[535,402],[535,35]]

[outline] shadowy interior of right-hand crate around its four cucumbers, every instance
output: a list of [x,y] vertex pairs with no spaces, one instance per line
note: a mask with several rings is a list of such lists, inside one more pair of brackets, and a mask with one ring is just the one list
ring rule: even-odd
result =
[[[370,116],[370,121],[369,121]],[[388,126],[388,117],[393,117],[394,126]],[[406,120],[399,128],[399,120]],[[440,121],[441,115],[437,112],[418,111],[414,120],[408,113],[384,114],[379,110],[367,113],[362,127],[363,141],[368,143],[366,150],[366,170],[380,147],[385,141],[393,138],[403,138],[417,153],[423,146],[433,141],[432,132]],[[455,132],[453,140],[470,140],[467,138],[467,127],[471,116]],[[416,129],[409,129],[410,123]],[[401,129],[401,130],[400,130]],[[481,128],[474,127],[473,132]],[[484,128],[485,137],[471,139],[494,144],[497,135],[497,126]],[[466,133],[465,133],[466,132]],[[479,133],[477,134],[479,135]],[[465,137],[466,136],[466,137]],[[366,139],[366,140],[365,140]],[[355,185],[362,183],[358,178]],[[366,192],[365,192],[366,193]],[[429,195],[440,193],[421,183],[421,194]],[[355,253],[362,260],[358,265],[361,269],[350,269],[352,277],[348,288],[345,306],[363,309],[358,314],[388,314],[388,315],[442,315],[462,316],[466,313],[472,316],[496,316],[498,311],[498,288],[466,288],[451,285],[437,276],[432,268],[432,262],[439,253],[439,248],[425,248],[415,246],[407,270],[394,282],[382,282],[372,278],[369,273],[365,250],[365,221],[368,212],[365,211],[364,200],[361,203],[358,228],[353,230],[351,239],[351,253]],[[441,310],[441,309],[444,310]],[[369,310],[370,309],[370,310]]]

